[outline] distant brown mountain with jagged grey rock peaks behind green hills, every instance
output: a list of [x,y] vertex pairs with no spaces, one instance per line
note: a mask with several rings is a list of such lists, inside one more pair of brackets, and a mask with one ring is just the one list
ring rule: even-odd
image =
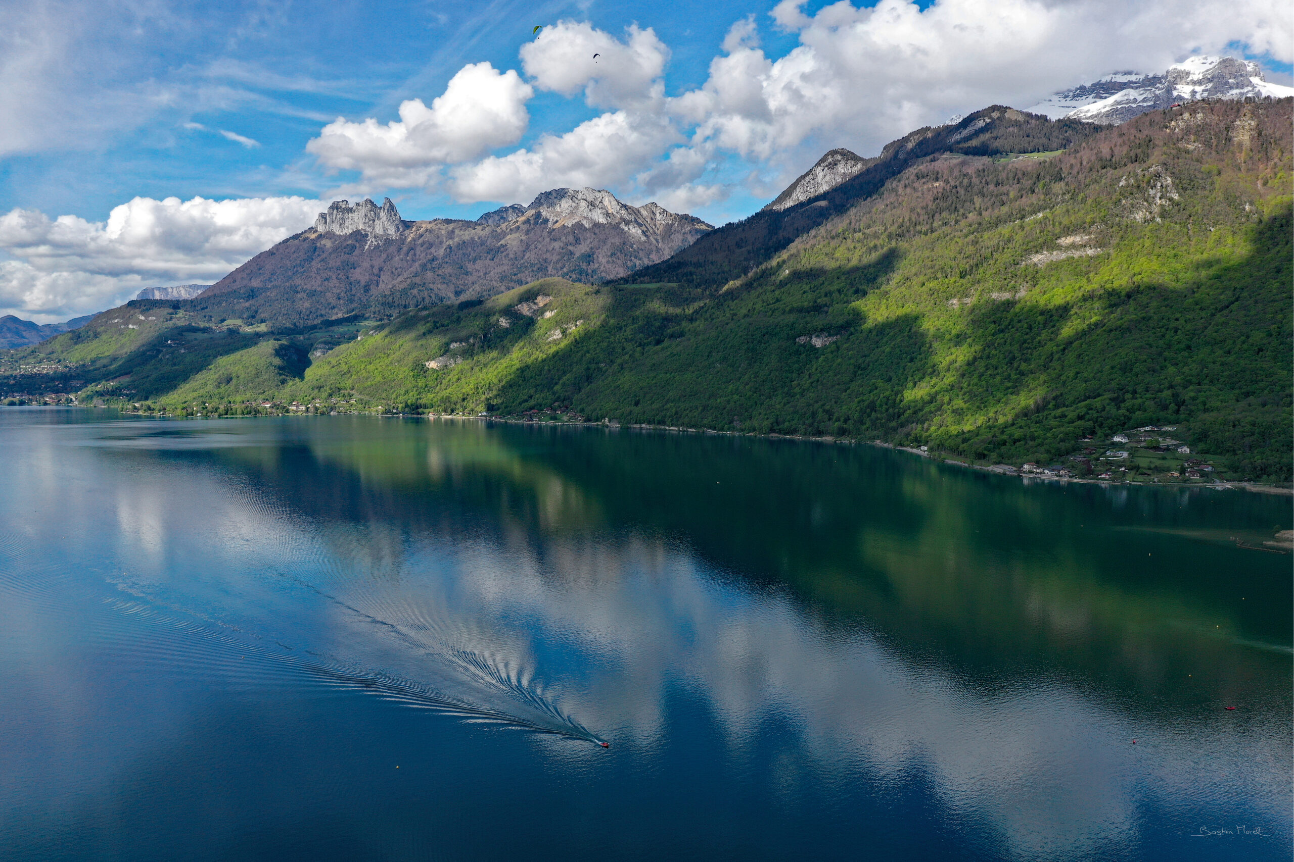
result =
[[334,203],[314,226],[247,261],[190,305],[212,322],[303,326],[494,296],[540,278],[599,282],[664,260],[710,230],[653,203],[555,189],[476,221],[405,221],[387,199]]

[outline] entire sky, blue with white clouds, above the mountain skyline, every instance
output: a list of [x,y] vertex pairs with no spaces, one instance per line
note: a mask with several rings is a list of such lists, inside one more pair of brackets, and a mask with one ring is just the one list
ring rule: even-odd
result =
[[722,224],[828,149],[875,154],[1114,68],[1227,52],[1289,83],[1291,17],[1267,0],[9,4],[0,313],[215,280],[336,196],[471,218],[594,185]]

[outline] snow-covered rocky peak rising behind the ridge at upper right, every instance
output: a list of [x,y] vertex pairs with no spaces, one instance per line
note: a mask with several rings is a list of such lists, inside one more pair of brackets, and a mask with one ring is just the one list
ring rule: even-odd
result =
[[1234,57],[1192,57],[1162,74],[1115,72],[1095,84],[1056,93],[1029,109],[1051,118],[1117,125],[1134,116],[1200,100],[1284,98],[1294,88],[1268,83],[1258,63]]

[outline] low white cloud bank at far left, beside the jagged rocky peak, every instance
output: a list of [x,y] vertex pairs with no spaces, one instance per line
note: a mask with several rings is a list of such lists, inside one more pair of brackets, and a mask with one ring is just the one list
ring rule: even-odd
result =
[[107,221],[0,216],[0,311],[41,323],[100,311],[141,287],[208,283],[314,221],[305,198],[135,198]]

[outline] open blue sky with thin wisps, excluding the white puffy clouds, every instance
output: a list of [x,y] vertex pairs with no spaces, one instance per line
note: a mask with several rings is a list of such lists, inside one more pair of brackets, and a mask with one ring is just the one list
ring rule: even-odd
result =
[[[823,4],[806,8],[814,5]],[[60,129],[0,160],[0,209],[102,220],[136,195],[314,198],[340,181],[314,169],[304,151],[325,123],[392,119],[402,100],[430,102],[468,62],[515,68],[536,23],[589,19],[616,34],[635,22],[650,26],[672,49],[668,89],[682,92],[704,83],[734,22],[771,6],[717,0],[679,14],[660,3],[195,3],[182,16],[150,6],[131,14],[127,5],[91,13],[96,19],[74,36],[89,62],[78,70],[84,78],[70,78],[135,98],[119,116],[98,118],[97,128]],[[793,34],[765,30],[770,53],[795,47]],[[540,94],[529,110],[521,146],[595,114],[555,93]],[[192,123],[204,128],[185,128]],[[391,191],[410,218],[475,217],[492,208]],[[752,205],[739,200],[725,209],[740,217]]]

